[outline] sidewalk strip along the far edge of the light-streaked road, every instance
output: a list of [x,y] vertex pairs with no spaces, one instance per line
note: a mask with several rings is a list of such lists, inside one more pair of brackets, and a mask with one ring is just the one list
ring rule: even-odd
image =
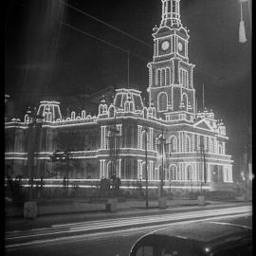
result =
[[217,201],[206,200],[205,206],[198,206],[196,199],[172,199],[168,200],[167,209],[159,209],[157,206],[157,200],[149,201],[149,208],[146,209],[145,201],[142,200],[127,200],[126,202],[120,202],[117,212],[105,212],[105,211],[92,211],[82,213],[69,213],[69,214],[51,214],[38,216],[35,219],[20,218],[6,218],[6,231],[11,230],[27,230],[27,229],[42,229],[48,228],[52,225],[74,223],[82,221],[112,219],[112,218],[129,218],[130,216],[141,215],[153,215],[160,213],[172,213],[177,211],[188,210],[204,210],[218,207],[232,207],[235,205],[247,204],[245,202],[232,201]]

